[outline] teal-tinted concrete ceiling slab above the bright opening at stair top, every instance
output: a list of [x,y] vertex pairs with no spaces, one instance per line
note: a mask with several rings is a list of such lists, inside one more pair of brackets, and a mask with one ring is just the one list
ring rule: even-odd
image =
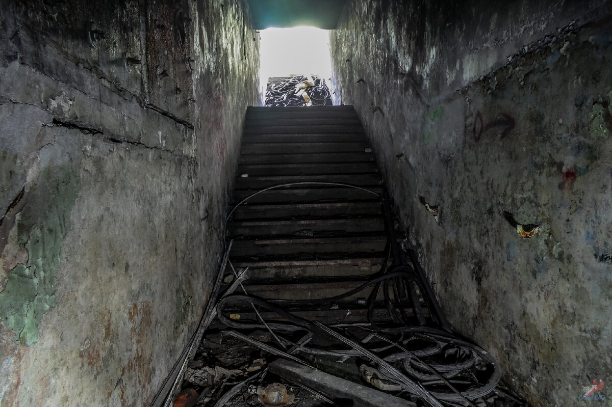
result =
[[255,29],[314,26],[335,29],[346,0],[247,0]]

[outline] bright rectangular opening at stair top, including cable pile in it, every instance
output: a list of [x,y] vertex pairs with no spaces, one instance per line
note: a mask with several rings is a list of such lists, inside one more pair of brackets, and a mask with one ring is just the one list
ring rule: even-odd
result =
[[329,30],[261,31],[259,83],[267,106],[332,105]]

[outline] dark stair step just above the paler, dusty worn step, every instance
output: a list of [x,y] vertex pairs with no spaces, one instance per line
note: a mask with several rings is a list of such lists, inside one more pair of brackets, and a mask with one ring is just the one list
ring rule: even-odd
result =
[[287,255],[297,252],[345,253],[384,252],[386,235],[331,238],[237,239],[231,255]]

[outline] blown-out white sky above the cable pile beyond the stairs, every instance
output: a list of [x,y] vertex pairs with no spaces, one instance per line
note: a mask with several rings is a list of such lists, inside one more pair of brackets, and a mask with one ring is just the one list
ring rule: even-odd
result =
[[[269,76],[313,74],[329,78],[329,31],[313,27],[261,30],[261,79]],[[265,85],[264,85],[265,86]]]

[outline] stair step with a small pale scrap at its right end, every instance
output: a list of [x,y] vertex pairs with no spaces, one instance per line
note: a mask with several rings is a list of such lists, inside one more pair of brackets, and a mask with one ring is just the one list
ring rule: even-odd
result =
[[[313,143],[244,143],[241,153],[249,154],[304,154],[304,153],[367,153],[367,141]],[[273,161],[274,162],[274,161]]]

